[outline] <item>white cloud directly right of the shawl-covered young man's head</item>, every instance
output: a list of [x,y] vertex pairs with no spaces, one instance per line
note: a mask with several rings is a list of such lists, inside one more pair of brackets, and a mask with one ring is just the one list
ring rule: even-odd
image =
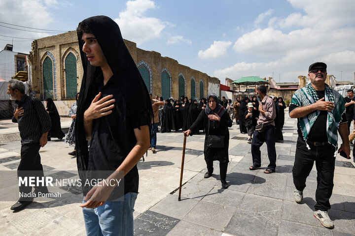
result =
[[119,25],[125,39],[136,42],[138,45],[145,41],[161,37],[162,30],[169,24],[158,18],[146,17],[148,9],[155,9],[151,0],[127,1],[127,8],[119,13],[114,21]]

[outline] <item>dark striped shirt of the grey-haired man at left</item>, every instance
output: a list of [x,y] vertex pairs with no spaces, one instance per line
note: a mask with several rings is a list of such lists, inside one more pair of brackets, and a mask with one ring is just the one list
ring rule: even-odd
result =
[[42,134],[47,133],[52,126],[51,119],[43,104],[37,98],[29,97],[26,94],[20,101],[16,100],[15,103],[19,108],[23,107],[24,109],[23,116],[18,117],[18,119],[12,117],[12,122],[18,123],[21,144],[39,143]]

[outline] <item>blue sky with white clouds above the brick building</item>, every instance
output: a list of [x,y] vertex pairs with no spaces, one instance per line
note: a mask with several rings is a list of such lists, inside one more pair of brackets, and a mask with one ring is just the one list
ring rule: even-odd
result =
[[[139,48],[222,84],[225,77],[251,75],[298,82],[315,61],[327,63],[338,81],[354,80],[354,0],[1,0],[0,9],[1,22],[55,30],[74,30],[87,17],[107,15]],[[0,34],[51,35],[3,27]],[[14,51],[30,50],[31,41],[14,42]]]

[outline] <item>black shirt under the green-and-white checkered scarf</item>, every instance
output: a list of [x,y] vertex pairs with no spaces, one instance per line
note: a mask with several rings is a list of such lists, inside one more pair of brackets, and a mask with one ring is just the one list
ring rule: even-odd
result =
[[[325,95],[325,90],[322,91],[317,91],[318,97],[321,99]],[[297,108],[296,105],[290,104],[289,106],[289,112],[291,112],[293,109]],[[328,118],[328,112],[327,111],[320,111],[320,114],[318,115],[316,121],[314,122],[310,133],[308,134],[307,140],[312,141],[312,142],[328,142],[328,136],[326,133],[326,123],[327,123],[327,118]],[[303,139],[303,134],[301,130],[301,126],[299,124],[299,119],[297,118],[297,133],[298,137]],[[347,122],[347,118],[345,113],[342,115],[342,119],[340,123]]]

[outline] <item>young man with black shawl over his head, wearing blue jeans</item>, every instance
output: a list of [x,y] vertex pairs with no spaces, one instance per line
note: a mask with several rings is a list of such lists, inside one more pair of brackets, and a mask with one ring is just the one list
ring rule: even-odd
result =
[[[86,232],[133,235],[133,207],[139,182],[137,162],[150,143],[150,97],[112,19],[85,19],[77,34],[84,67],[75,124],[79,174],[86,171],[85,176],[80,176],[85,178],[97,171],[112,173],[106,183],[103,181],[89,191],[83,188],[85,198],[80,207]],[[141,101],[140,106],[132,106],[131,97]],[[86,140],[91,140],[89,150]],[[120,181],[122,173],[124,178]],[[124,194],[116,191],[122,183]]]

